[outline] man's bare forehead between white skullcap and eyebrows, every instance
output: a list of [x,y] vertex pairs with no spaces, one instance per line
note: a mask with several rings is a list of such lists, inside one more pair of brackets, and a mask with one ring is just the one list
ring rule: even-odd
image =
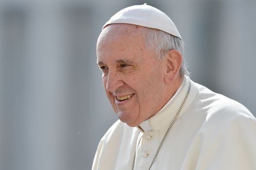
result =
[[143,57],[148,52],[145,46],[145,29],[131,24],[110,24],[97,41],[98,62],[125,60]]

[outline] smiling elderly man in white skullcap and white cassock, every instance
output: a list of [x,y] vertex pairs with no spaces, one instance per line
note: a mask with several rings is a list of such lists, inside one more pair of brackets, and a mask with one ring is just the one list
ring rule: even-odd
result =
[[182,37],[162,11],[135,5],[111,17],[97,62],[120,120],[92,170],[256,170],[256,119],[190,80]]

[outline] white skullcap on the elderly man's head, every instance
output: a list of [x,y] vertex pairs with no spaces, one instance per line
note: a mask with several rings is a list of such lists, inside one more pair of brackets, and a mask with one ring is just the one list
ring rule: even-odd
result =
[[143,5],[129,6],[117,12],[105,23],[102,30],[107,25],[115,23],[126,23],[155,28],[182,39],[181,34],[172,20],[164,12],[147,5],[146,3]]

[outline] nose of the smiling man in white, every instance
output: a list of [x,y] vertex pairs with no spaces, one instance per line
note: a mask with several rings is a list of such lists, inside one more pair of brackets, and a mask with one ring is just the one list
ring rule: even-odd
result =
[[110,92],[114,92],[118,87],[124,85],[124,82],[121,80],[120,75],[117,72],[109,71],[106,83],[106,88]]

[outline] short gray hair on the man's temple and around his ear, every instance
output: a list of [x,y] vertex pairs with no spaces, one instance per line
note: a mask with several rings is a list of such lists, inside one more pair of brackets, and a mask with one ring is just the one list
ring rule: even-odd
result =
[[[183,56],[184,51],[184,42],[177,36],[173,36],[171,34],[165,33],[164,31],[153,29],[153,28],[145,28],[144,36],[145,36],[145,45],[147,50],[154,49],[156,51],[156,57],[161,59],[164,57],[165,53],[170,50],[177,50]],[[183,63],[180,69],[180,75],[183,77],[184,75],[189,76],[189,72],[186,69],[186,62],[183,57]]]

